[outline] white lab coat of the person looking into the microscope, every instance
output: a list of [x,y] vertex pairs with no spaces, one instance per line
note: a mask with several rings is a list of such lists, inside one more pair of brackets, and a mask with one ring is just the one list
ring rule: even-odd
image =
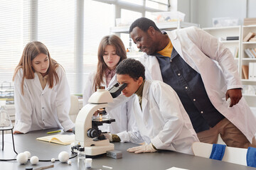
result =
[[[168,95],[166,95],[168,94]],[[168,84],[146,80],[142,92],[142,109],[134,97],[134,117],[144,142],[157,149],[193,154],[198,137],[178,95]]]

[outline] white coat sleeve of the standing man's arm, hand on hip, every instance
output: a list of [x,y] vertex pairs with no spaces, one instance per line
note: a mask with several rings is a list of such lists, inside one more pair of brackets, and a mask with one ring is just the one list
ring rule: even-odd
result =
[[205,55],[218,62],[223,70],[228,89],[242,88],[238,67],[230,50],[223,43],[219,42],[217,38],[213,37],[213,35],[200,28],[195,27],[194,29],[196,33],[194,34],[195,37],[193,37],[194,43],[198,45]]

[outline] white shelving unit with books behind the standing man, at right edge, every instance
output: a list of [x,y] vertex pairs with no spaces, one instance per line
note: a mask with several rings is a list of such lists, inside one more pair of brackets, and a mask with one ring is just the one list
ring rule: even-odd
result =
[[[256,57],[249,57],[246,49],[256,48],[256,42],[243,42],[248,33],[256,33],[256,26],[230,26],[220,28],[203,28],[211,35],[223,42],[233,53],[234,60],[238,65],[238,72],[242,81],[242,96],[247,101],[252,112],[256,114],[256,79],[248,79],[249,63],[256,64]],[[239,40],[226,40],[227,37],[238,36]],[[256,66],[255,66],[256,71]],[[256,73],[255,73],[256,74]]]

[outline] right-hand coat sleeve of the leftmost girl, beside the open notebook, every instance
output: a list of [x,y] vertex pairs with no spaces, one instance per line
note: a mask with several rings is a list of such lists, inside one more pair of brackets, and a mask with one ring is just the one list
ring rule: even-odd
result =
[[75,127],[68,115],[70,111],[70,89],[64,70],[61,67],[58,67],[56,71],[59,77],[58,84],[55,85],[57,86],[55,99],[56,110],[60,124],[63,126],[64,130],[67,131]]

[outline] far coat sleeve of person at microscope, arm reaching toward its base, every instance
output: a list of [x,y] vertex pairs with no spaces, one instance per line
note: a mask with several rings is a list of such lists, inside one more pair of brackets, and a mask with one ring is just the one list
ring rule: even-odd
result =
[[134,96],[131,96],[131,98],[129,98],[129,101],[127,101],[127,131],[119,132],[117,133],[117,135],[121,140],[120,142],[132,142],[139,144],[144,142],[144,140],[139,133],[139,129],[137,128],[137,123],[134,118],[134,110],[132,108],[133,102]]

